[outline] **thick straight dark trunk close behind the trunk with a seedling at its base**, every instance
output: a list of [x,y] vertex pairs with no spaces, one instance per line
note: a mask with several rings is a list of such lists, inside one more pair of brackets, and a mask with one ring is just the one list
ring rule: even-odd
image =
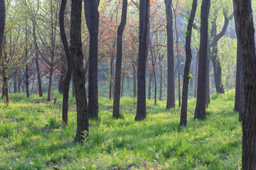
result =
[[88,85],[88,113],[92,119],[98,119],[98,34],[99,34],[99,6],[100,0],[84,0],[86,25],[90,34],[89,49],[89,85]]

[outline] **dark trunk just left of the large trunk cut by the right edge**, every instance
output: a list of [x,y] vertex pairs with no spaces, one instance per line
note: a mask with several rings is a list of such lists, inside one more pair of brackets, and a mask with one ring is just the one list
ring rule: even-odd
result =
[[[237,73],[236,73],[236,93],[235,93],[235,106],[234,110],[239,111],[240,113],[240,103],[243,101],[240,101],[240,90],[241,90],[241,74],[242,72],[242,57],[241,57],[241,46],[240,46],[240,41],[238,37],[238,15],[237,15],[237,4],[235,3],[235,0],[233,0],[233,6],[234,6],[234,18],[235,18],[235,27],[236,27],[236,34],[237,34]],[[243,99],[243,98],[242,98]]]

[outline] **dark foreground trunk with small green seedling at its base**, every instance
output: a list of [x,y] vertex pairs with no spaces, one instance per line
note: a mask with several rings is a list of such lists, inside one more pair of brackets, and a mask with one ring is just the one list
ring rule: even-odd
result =
[[[77,129],[75,140],[81,140],[88,136],[89,115],[87,111],[87,98],[85,89],[85,77],[81,42],[81,13],[82,0],[72,0],[71,7],[71,29],[70,29],[70,51],[73,58],[73,76],[77,110]],[[86,133],[84,134],[84,131]]]

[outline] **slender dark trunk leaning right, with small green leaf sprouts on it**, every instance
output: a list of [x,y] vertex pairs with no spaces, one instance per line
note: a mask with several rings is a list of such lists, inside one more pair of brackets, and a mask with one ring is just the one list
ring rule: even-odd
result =
[[182,89],[182,108],[181,108],[181,119],[180,126],[187,126],[187,105],[188,105],[188,85],[189,85],[189,73],[190,73],[190,64],[192,60],[191,52],[191,32],[192,25],[194,22],[194,17],[197,8],[197,0],[193,0],[192,9],[190,13],[190,20],[188,22],[187,31],[190,33],[186,36],[186,60],[184,67],[184,76],[183,76],[183,89]]

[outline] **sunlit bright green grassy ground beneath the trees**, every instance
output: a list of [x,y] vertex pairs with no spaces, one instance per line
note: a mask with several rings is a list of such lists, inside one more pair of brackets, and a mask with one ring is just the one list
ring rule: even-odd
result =
[[212,95],[207,118],[193,120],[196,100],[189,101],[188,126],[179,127],[180,110],[165,101],[147,101],[147,118],[135,122],[136,101],[121,99],[121,119],[111,118],[112,100],[100,99],[98,121],[90,120],[86,144],[75,144],[75,100],[70,98],[68,127],[61,124],[61,95],[11,94],[0,101],[0,170],[238,170],[242,128],[233,111],[234,91]]

